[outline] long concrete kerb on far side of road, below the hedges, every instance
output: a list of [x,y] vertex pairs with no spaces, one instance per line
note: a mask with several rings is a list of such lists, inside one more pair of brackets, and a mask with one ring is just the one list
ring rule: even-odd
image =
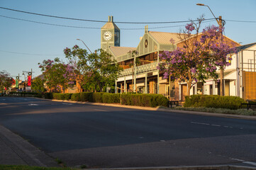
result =
[[99,105],[99,106],[113,106],[113,107],[119,107],[119,108],[135,108],[145,111],[165,111],[165,112],[173,112],[173,113],[184,113],[184,114],[194,114],[194,115],[208,115],[208,116],[218,116],[218,117],[225,117],[225,118],[242,118],[242,119],[250,119],[250,120],[256,120],[255,115],[232,115],[232,114],[223,114],[223,113],[208,113],[208,112],[200,112],[200,111],[181,111],[181,110],[175,110],[175,109],[169,109],[169,108],[160,108],[159,106],[157,108],[150,108],[150,107],[143,107],[143,106],[127,106],[127,105],[121,105],[121,104],[113,104],[113,103],[92,103],[92,102],[81,102],[81,101],[61,101],[61,100],[55,100],[55,99],[46,99],[50,101],[58,101],[58,102],[66,102],[66,103],[83,103],[83,104],[89,104],[89,105]]

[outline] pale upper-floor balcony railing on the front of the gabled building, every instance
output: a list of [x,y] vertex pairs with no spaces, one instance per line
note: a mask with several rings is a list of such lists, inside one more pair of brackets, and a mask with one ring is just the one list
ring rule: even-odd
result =
[[[136,67],[136,73],[140,74],[143,72],[150,72],[157,69],[157,62],[153,62],[150,64],[144,64],[141,66]],[[124,69],[123,72],[119,74],[119,77],[128,76],[133,74],[133,68],[130,69]]]

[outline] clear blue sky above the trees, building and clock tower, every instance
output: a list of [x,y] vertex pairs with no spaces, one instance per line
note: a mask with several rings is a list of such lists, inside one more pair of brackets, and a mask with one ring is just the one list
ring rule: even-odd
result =
[[[205,18],[213,18],[206,6],[196,6],[197,3],[210,6],[215,16],[222,16],[224,20],[256,21],[255,0],[0,0],[0,6],[5,8],[98,21],[107,21],[108,16],[113,16],[113,21],[144,23],[187,21],[196,19],[202,14],[205,15]],[[60,57],[61,60],[66,61],[65,55],[63,55],[65,47],[74,45],[84,47],[82,42],[76,40],[77,38],[84,40],[90,50],[99,49],[101,45],[100,29],[48,26],[3,16],[42,23],[93,28],[101,28],[104,23],[71,21],[0,9],[0,70],[4,69],[13,76],[21,75],[23,71],[31,69],[34,72],[33,77],[41,74],[38,62],[43,60]],[[153,31],[178,33],[180,28],[184,28],[182,26],[184,24],[186,23],[148,24],[148,27]],[[212,24],[217,26],[216,21],[212,21],[205,23],[203,28]],[[139,38],[144,34],[143,29],[146,24],[116,23],[116,25],[121,29],[121,46],[137,47],[140,42]],[[162,26],[169,28],[156,28]],[[141,29],[125,30],[122,28]],[[256,22],[226,21],[225,28],[226,36],[236,42],[242,42],[242,45],[256,42]]]

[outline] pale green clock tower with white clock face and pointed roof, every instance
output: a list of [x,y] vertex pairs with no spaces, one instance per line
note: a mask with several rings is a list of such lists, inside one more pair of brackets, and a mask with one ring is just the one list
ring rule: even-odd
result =
[[113,16],[108,16],[108,22],[101,28],[101,49],[109,53],[109,47],[120,47],[120,29],[113,23]]

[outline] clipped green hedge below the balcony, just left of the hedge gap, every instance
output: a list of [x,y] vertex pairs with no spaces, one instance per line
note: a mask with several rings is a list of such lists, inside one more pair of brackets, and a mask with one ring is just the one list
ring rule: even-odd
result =
[[122,94],[123,105],[145,106],[155,108],[157,106],[167,107],[168,99],[161,94]]

